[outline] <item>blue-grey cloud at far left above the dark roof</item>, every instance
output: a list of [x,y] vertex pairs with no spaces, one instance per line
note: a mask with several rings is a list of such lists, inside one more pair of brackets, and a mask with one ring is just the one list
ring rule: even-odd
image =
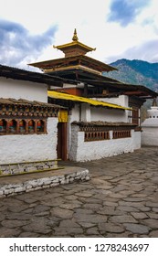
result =
[[[0,63],[25,68],[26,61],[36,58],[42,50],[52,43],[56,27],[50,27],[40,35],[30,35],[25,27],[0,20]],[[25,66],[23,67],[23,64]]]

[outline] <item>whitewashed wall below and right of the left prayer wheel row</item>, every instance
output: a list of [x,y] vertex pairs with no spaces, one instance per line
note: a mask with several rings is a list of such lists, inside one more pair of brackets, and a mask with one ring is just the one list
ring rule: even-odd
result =
[[47,119],[47,134],[0,136],[0,164],[57,158],[58,118]]

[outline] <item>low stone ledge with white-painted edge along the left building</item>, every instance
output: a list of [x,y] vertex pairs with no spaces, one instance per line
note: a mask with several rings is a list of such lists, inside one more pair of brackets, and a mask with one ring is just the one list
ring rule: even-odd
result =
[[26,176],[0,177],[0,197],[10,197],[38,189],[56,187],[76,181],[90,180],[89,170],[67,166],[64,169],[48,171]]

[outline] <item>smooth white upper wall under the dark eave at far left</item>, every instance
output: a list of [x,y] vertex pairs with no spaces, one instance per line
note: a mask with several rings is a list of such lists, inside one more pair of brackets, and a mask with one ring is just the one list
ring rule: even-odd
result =
[[25,80],[0,78],[0,98],[47,102],[47,85]]

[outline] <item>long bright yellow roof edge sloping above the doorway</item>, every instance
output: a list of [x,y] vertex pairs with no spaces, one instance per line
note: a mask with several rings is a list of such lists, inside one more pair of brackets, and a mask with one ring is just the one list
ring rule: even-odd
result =
[[89,98],[79,97],[79,96],[58,92],[58,91],[47,91],[47,96],[54,99],[59,99],[59,100],[85,102],[94,106],[102,106],[102,107],[108,107],[113,109],[130,110],[130,111],[132,110],[131,108],[122,107],[117,104],[112,104],[104,101],[96,101]]

